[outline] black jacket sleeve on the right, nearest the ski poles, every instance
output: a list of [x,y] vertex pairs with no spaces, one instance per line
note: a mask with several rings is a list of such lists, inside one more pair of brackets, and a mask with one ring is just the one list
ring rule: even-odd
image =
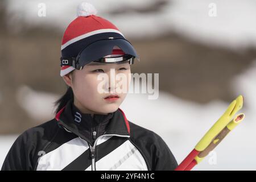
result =
[[173,171],[178,166],[177,161],[166,142],[159,135],[156,136],[155,160],[152,169],[154,171]]

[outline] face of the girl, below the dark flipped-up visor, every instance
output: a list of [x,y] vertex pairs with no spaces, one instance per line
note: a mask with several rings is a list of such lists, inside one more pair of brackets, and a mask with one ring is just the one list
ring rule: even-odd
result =
[[[110,69],[112,69],[111,74]],[[81,70],[75,69],[63,78],[72,87],[74,104],[82,113],[108,114],[116,111],[125,99],[131,80],[130,73],[128,61],[121,64],[92,62]],[[101,76],[101,79],[98,79],[98,76]],[[103,80],[102,76],[108,79]],[[106,100],[105,98],[110,94],[117,94],[119,98]]]

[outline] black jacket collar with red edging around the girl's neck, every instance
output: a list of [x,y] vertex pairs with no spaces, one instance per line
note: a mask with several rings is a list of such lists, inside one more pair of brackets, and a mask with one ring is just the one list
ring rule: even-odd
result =
[[130,135],[129,122],[120,108],[113,113],[106,115],[94,114],[92,117],[90,114],[81,113],[81,111],[73,105],[73,100],[69,100],[56,114],[55,119],[59,121],[60,125],[63,125],[65,129],[83,139],[86,138],[82,134],[82,130],[89,129],[90,131],[95,122],[97,125],[99,123],[108,123],[105,134]]

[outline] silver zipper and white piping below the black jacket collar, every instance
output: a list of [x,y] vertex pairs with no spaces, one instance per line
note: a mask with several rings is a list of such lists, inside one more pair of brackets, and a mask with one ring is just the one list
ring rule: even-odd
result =
[[[69,131],[68,129],[66,129],[63,125],[61,125],[65,131],[67,131],[68,133],[72,133],[72,131]],[[95,136],[96,136],[96,131],[95,131]],[[89,142],[87,142],[85,139],[79,137],[81,140],[84,140],[85,142],[87,142],[89,144],[89,148],[90,148],[90,158],[92,158],[92,171],[96,171],[96,167],[95,167],[95,148],[96,148],[96,144],[98,139],[100,139],[101,137],[107,137],[107,136],[114,136],[114,137],[127,137],[129,138],[130,135],[119,135],[119,134],[104,134],[104,135],[100,135],[93,143],[93,146],[90,145]]]

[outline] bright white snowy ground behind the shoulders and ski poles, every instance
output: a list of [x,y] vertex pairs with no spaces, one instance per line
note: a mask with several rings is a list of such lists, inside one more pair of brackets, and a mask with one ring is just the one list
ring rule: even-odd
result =
[[[222,143],[195,169],[197,170],[245,170],[256,169],[256,61],[247,72],[234,78],[234,90],[245,97],[242,112],[246,118]],[[235,88],[240,85],[241,88]],[[42,93],[40,93],[42,94]],[[42,94],[46,97],[47,94]],[[24,97],[24,96],[23,96]],[[51,97],[51,96],[49,96]],[[28,96],[27,102],[35,102],[38,96]],[[231,102],[231,101],[230,101]],[[135,104],[134,104],[135,103]],[[195,147],[204,133],[224,113],[229,103],[210,102],[206,105],[180,100],[160,92],[158,100],[148,100],[147,94],[128,94],[120,108],[127,118],[140,126],[159,134],[171,148],[178,163]],[[51,107],[51,106],[46,106]],[[26,108],[25,108],[26,109]],[[30,114],[30,113],[28,113]],[[17,136],[0,137],[0,166]],[[214,158],[216,154],[216,158]],[[214,158],[216,164],[209,163]]]

